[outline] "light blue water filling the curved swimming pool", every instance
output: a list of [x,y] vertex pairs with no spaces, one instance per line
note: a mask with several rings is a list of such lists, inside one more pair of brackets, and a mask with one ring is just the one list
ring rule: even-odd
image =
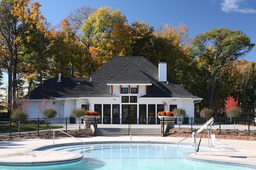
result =
[[[241,170],[248,169],[222,164],[207,164],[185,160],[183,154],[194,152],[193,146],[158,143],[112,143],[112,144],[86,144],[43,148],[40,150],[69,151],[83,153],[82,161],[60,166],[31,167],[31,169],[44,170]],[[200,152],[213,150],[213,148],[200,146]],[[217,149],[214,149],[217,150]],[[218,149],[219,151],[219,149]],[[61,156],[61,155],[60,155]],[[28,169],[29,167],[6,168],[0,170]]]

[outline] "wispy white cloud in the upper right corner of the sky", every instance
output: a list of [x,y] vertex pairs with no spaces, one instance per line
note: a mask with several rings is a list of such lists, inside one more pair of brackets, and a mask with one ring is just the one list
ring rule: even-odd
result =
[[244,2],[244,0],[223,0],[221,10],[224,12],[241,12],[244,14],[256,13],[256,10],[253,8],[240,7],[241,2]]

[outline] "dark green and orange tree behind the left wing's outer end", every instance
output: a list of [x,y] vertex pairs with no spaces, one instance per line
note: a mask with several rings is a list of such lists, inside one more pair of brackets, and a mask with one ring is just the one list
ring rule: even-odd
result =
[[[48,79],[50,56],[48,47],[52,34],[48,30],[50,24],[43,16],[38,16],[37,21],[31,24],[30,30],[24,33],[18,59],[20,82],[27,81],[28,93]],[[24,86],[24,85],[22,85]]]

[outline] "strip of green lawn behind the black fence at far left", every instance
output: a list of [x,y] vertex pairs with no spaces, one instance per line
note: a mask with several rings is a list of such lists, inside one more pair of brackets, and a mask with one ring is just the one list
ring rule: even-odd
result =
[[[50,126],[51,129],[53,128],[62,128],[62,126]],[[45,130],[49,129],[47,125],[29,125],[29,124],[24,124],[20,125],[20,132],[24,131],[34,131],[34,130]],[[12,125],[12,132],[18,132],[19,127],[17,125]],[[10,132],[10,126],[1,126],[0,125],[0,133],[8,133]]]

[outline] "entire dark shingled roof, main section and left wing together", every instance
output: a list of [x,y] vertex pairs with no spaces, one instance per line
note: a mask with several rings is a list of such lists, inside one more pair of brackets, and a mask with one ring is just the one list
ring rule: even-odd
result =
[[[34,89],[30,99],[77,97],[116,97],[110,94],[108,83],[152,83],[148,86],[148,94],[142,97],[179,97],[201,99],[168,78],[167,82],[158,81],[158,68],[144,57],[114,57],[87,79],[70,78],[70,81],[57,83],[57,78],[45,81]],[[76,84],[78,80],[80,85]],[[90,82],[91,80],[91,82]],[[36,93],[34,93],[36,91]]]

